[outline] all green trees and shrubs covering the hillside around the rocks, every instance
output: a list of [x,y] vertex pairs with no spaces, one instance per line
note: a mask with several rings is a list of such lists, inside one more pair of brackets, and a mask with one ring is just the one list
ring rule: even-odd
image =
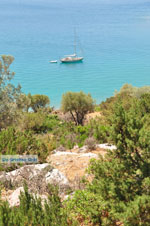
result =
[[[45,95],[24,94],[11,80],[14,58],[0,59],[0,153],[37,154],[41,163],[54,149],[110,143],[117,149],[91,160],[84,189],[62,202],[56,187],[49,199],[25,193],[19,207],[0,202],[0,225],[150,225],[150,87],[125,84],[96,105],[90,94],[63,94],[61,110]],[[86,120],[90,112],[101,116]],[[0,165],[1,171],[15,168]],[[17,166],[18,167],[18,166]],[[1,186],[2,187],[2,186]]]

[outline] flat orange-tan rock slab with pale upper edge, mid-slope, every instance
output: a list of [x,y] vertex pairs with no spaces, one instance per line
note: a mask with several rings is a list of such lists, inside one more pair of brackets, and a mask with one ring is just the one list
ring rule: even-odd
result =
[[82,148],[75,146],[72,150],[65,152],[54,150],[53,154],[47,158],[47,162],[62,172],[73,188],[77,188],[80,186],[81,178],[86,175],[90,160],[97,159],[99,155],[105,156],[108,150],[115,149],[116,147],[113,145],[98,144],[93,151],[89,151],[88,146]]

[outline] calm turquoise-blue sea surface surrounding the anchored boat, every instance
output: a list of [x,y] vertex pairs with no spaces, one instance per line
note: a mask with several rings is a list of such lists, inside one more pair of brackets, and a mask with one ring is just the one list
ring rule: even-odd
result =
[[[100,103],[125,83],[150,85],[150,0],[0,0],[0,54],[14,83],[60,107],[67,91]],[[83,63],[50,64],[74,52]]]

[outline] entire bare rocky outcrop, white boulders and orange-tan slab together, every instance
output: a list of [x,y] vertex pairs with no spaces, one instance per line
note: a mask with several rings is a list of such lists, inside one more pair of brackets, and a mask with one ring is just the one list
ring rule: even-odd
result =
[[0,182],[5,186],[2,197],[10,206],[18,206],[19,195],[26,182],[29,192],[41,197],[42,200],[47,198],[48,184],[57,185],[59,194],[64,200],[68,197],[66,196],[68,189],[74,191],[83,188],[80,182],[83,176],[92,179],[92,175],[86,174],[90,160],[98,159],[99,155],[105,156],[109,150],[115,149],[113,145],[99,144],[93,151],[89,151],[88,146],[82,148],[75,146],[68,151],[54,150],[47,158],[48,163],[24,165],[11,172],[1,172]]

